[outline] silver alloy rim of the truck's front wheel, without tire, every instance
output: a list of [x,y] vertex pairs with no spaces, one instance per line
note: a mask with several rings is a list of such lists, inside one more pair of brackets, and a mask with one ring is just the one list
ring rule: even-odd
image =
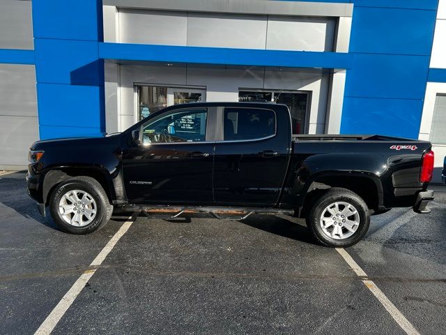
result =
[[59,214],[66,223],[75,227],[84,227],[91,223],[97,209],[95,200],[85,191],[68,191],[59,202]]

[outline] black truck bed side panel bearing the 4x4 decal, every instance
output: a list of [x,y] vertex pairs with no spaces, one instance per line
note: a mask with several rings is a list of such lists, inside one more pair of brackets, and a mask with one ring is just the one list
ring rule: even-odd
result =
[[[391,149],[399,144],[416,149]],[[376,186],[380,209],[413,206],[417,193],[426,189],[419,177],[422,155],[430,147],[429,142],[407,140],[293,142],[280,206],[302,206],[312,183],[328,177],[334,183],[341,177],[368,179]]]

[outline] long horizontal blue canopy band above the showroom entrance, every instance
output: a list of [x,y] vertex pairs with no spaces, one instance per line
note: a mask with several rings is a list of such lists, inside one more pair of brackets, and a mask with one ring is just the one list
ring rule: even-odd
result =
[[351,54],[99,43],[102,59],[162,61],[169,63],[222,64],[234,66],[280,66],[291,68],[349,68]]

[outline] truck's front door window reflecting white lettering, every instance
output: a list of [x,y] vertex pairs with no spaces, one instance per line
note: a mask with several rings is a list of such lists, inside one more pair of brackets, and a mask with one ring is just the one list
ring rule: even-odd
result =
[[206,140],[205,109],[172,112],[143,126],[143,143],[203,142]]

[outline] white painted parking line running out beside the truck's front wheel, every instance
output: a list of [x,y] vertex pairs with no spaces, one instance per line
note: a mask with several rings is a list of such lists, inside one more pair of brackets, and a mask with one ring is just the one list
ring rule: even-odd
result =
[[[127,232],[128,228],[130,228],[130,225],[132,225],[132,223],[134,222],[134,218],[135,217],[132,216],[131,218],[129,218],[128,221],[123,223],[121,228],[119,228],[116,234],[113,235],[112,239],[108,241],[107,245],[102,248],[102,251],[100,251],[93,262],[91,262],[91,267],[102,264],[107,255],[116,245],[116,242],[119,241],[119,239],[123,237],[123,234]],[[62,297],[61,301],[59,301],[59,304],[57,304],[56,307],[54,307],[54,309],[51,311],[51,313],[49,313],[45,321],[43,321],[42,325],[40,325],[34,335],[51,334],[54,327],[56,327],[59,320],[61,320],[61,318],[63,317],[63,314],[65,314],[68,308],[70,308],[73,301],[75,301],[76,297],[85,287],[86,283],[90,280],[93,274],[95,274],[95,272],[96,269],[86,270],[79,278],[77,278],[77,281],[75,281],[70,290],[68,290],[68,292],[66,292],[66,294]]]

